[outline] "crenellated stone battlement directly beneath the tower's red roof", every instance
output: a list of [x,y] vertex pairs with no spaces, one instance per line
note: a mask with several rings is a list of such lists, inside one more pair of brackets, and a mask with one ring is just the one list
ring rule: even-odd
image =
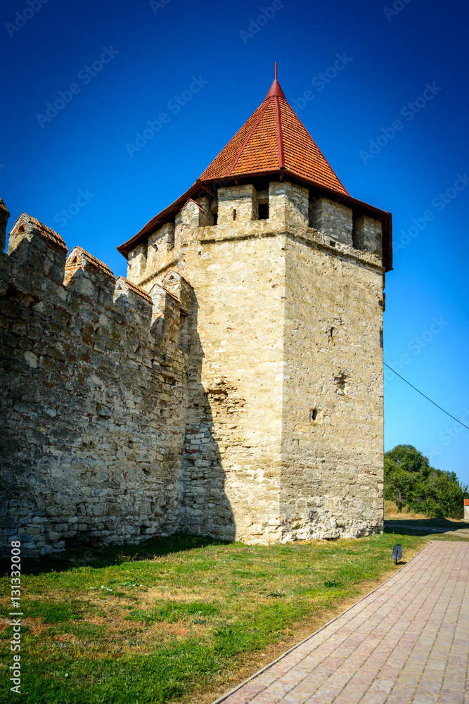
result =
[[148,289],[184,257],[188,247],[290,233],[333,256],[349,256],[383,268],[380,220],[314,196],[309,189],[275,181],[268,190],[252,184],[219,187],[211,200],[188,199],[173,223],[165,223],[129,251],[127,277]]

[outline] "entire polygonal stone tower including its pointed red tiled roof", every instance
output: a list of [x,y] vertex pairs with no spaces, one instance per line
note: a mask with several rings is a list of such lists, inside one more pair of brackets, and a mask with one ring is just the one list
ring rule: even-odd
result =
[[381,531],[391,216],[349,195],[277,80],[118,249],[154,306],[163,289],[181,302],[181,529],[252,543]]

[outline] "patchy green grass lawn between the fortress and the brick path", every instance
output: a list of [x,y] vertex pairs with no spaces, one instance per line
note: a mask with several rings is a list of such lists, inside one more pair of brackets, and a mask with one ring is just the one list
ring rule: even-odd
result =
[[[408,560],[428,539],[246,546],[172,536],[25,560],[21,700],[210,702],[389,577],[395,542]],[[6,614],[8,576],[0,585]],[[0,629],[0,700],[15,701],[1,698],[12,629]]]

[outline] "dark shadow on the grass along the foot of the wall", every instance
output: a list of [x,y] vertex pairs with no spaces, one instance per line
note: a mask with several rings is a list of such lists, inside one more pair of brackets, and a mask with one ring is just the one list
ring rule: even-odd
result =
[[[87,543],[86,546],[69,548],[58,555],[44,555],[41,558],[23,558],[23,574],[41,574],[42,572],[66,572],[74,567],[110,567],[123,560],[153,560],[171,553],[206,548],[210,545],[228,545],[231,541],[217,540],[210,536],[194,536],[175,533],[161,537],[155,536],[139,545],[119,543],[108,546]],[[0,560],[0,576],[9,574],[11,562],[8,558]]]

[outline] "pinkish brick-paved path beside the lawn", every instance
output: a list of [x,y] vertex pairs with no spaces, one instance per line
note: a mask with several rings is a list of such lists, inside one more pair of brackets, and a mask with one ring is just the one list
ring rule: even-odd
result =
[[469,543],[428,543],[385,584],[217,702],[469,704],[468,571]]

